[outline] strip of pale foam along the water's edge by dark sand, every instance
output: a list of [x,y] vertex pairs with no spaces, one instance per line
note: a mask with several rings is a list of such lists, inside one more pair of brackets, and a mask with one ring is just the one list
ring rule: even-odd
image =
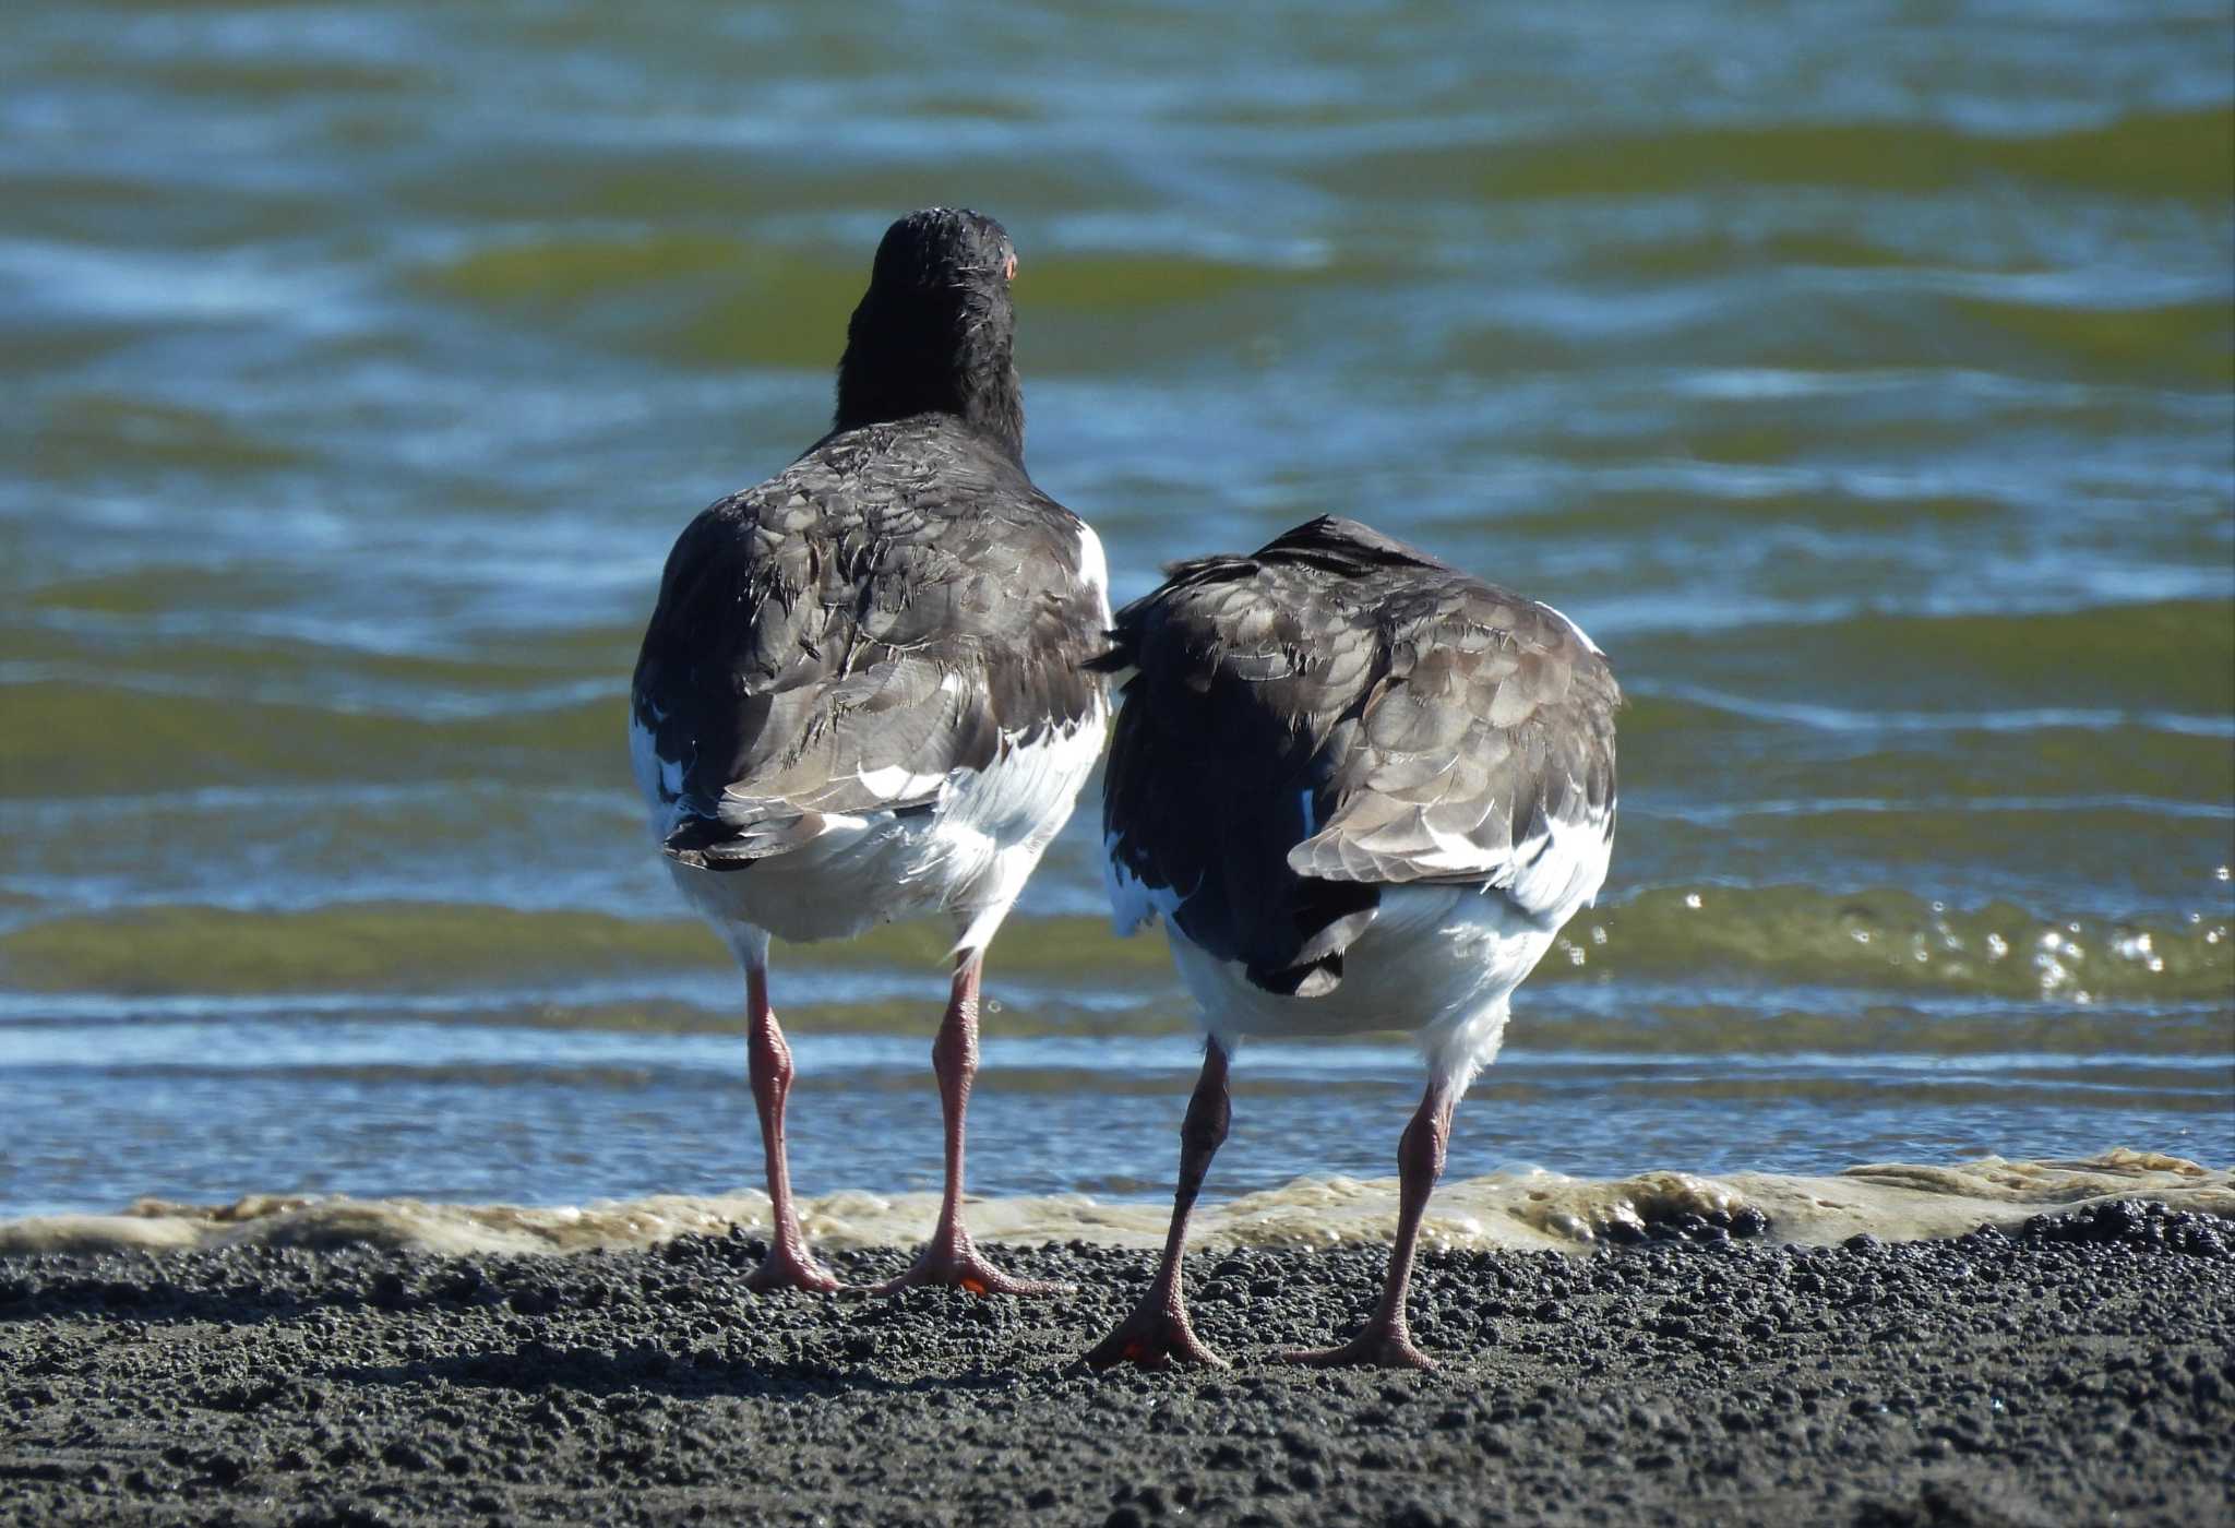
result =
[[[1784,1173],[1638,1173],[1585,1180],[1542,1168],[1444,1184],[1424,1238],[1437,1247],[1589,1251],[1627,1229],[1683,1213],[1757,1209],[1781,1242],[1828,1244],[1862,1231],[1882,1240],[1960,1235],[1980,1224],[2014,1226],[2029,1215],[2099,1200],[2148,1197],[2172,1209],[2235,1220],[2235,1171],[2159,1153],[2110,1150],[2085,1159],[2012,1162],[1978,1157],[1947,1166],[1871,1164],[1826,1177]],[[930,1193],[831,1193],[805,1200],[807,1233],[829,1249],[910,1247],[939,1200]],[[1095,1242],[1153,1249],[1169,1206],[1100,1202],[1086,1195],[979,1200],[970,1229],[981,1242]],[[653,1247],[675,1235],[767,1233],[769,1197],[655,1195],[579,1206],[429,1204],[248,1195],[224,1206],[141,1200],[116,1215],[36,1215],[0,1222],[0,1253],[192,1251],[219,1247],[378,1247],[425,1253],[581,1253]],[[1397,1226],[1397,1180],[1301,1177],[1196,1211],[1189,1244],[1341,1247],[1388,1242]]]

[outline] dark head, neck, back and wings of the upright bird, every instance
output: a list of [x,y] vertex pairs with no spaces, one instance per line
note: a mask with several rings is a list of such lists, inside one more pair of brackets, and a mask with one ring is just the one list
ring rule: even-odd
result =
[[838,429],[668,554],[633,708],[675,858],[738,869],[831,813],[925,806],[950,771],[1095,713],[1097,570],[1024,469],[1010,270],[988,217],[894,223]]

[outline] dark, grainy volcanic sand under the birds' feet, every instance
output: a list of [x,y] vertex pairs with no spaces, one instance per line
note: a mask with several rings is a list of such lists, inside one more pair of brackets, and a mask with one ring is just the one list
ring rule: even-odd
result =
[[2228,1521],[2228,1226],[1860,1242],[1430,1255],[1435,1374],[1267,1360],[1379,1249],[1198,1255],[1223,1374],[1073,1367],[1106,1249],[1010,1251],[1037,1302],[751,1296],[735,1238],[0,1260],[0,1519]]

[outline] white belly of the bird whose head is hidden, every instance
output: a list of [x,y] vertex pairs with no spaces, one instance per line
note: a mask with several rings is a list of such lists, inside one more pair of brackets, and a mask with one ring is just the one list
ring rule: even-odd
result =
[[1558,927],[1497,891],[1386,887],[1381,914],[1343,954],[1343,981],[1299,999],[1254,985],[1164,918],[1171,961],[1223,1045],[1240,1037],[1410,1030],[1430,1066],[1459,1086],[1497,1054],[1506,999],[1551,949]]

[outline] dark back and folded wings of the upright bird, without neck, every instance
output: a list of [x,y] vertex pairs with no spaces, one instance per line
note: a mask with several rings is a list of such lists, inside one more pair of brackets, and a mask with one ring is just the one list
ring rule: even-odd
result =
[[905,483],[834,509],[807,465],[684,532],[637,661],[666,849],[688,865],[928,809],[954,771],[1095,706],[1102,596],[1064,509],[943,514]]

